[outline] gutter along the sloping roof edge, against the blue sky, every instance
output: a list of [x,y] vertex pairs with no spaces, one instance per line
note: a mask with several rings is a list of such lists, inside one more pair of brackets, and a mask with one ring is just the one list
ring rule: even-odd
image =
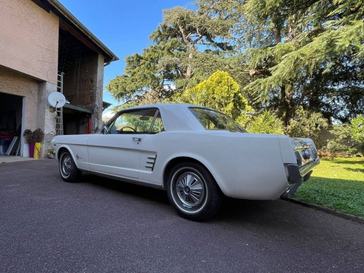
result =
[[[107,55],[111,57],[111,61],[107,62],[109,65],[112,61],[117,61],[119,58],[109,50],[106,45],[100,41],[91,31],[89,31],[72,13],[70,13],[58,0],[48,0],[48,2],[64,17],[66,17],[72,24],[74,24],[79,30],[82,31],[90,40],[98,45]],[[104,65],[104,66],[106,66]]]

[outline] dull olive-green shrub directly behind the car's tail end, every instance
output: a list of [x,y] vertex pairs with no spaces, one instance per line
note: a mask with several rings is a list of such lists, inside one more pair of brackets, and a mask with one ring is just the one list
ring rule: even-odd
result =
[[321,113],[304,110],[302,106],[295,109],[294,118],[290,119],[286,133],[294,138],[310,138],[320,148],[320,134],[327,129],[328,121]]

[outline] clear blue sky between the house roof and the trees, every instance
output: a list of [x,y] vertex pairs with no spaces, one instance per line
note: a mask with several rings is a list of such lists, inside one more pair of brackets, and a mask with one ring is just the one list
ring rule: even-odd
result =
[[[183,6],[192,8],[191,0],[60,0],[78,20],[92,31],[119,61],[104,70],[104,87],[109,79],[124,72],[124,58],[141,53],[151,41],[149,35],[162,22],[164,9]],[[104,101],[118,105],[104,88]]]

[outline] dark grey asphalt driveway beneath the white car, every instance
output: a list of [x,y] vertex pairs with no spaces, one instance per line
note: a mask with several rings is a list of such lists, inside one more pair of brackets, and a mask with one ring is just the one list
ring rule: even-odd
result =
[[165,192],[55,160],[0,164],[0,272],[350,271],[364,225],[281,200],[227,199],[208,222],[176,215]]

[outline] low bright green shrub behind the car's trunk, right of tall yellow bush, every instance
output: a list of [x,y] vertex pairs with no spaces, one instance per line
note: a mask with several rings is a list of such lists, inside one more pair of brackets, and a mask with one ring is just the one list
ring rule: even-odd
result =
[[274,113],[265,110],[263,113],[254,116],[246,127],[251,133],[284,133],[284,124]]

